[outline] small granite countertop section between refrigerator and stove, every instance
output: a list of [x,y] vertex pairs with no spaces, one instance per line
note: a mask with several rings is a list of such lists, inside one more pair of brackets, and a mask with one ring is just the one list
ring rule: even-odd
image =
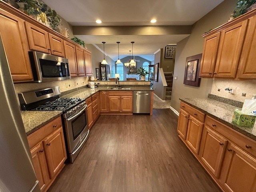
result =
[[21,111],[26,135],[30,135],[42,126],[56,119],[62,111]]

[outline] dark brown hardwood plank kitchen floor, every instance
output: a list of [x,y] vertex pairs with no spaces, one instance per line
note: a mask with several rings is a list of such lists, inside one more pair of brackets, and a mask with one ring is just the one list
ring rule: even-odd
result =
[[48,192],[221,192],[177,136],[170,109],[100,116]]

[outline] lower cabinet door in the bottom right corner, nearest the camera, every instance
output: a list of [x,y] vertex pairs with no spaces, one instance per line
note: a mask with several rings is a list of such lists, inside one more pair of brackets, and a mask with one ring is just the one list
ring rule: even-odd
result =
[[228,192],[256,191],[256,160],[233,144],[228,144],[222,171],[222,185]]

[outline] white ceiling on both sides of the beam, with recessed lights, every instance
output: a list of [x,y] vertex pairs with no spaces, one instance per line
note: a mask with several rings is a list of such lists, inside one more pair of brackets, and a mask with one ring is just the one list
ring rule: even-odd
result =
[[[72,26],[150,26],[150,25],[192,25],[210,12],[223,0],[43,0],[56,10]],[[155,18],[157,22],[151,24]],[[102,20],[97,24],[95,20]],[[154,60],[152,54],[168,44],[176,44],[189,34],[178,35],[76,35],[86,44],[103,48],[113,60],[117,60],[117,44],[120,56],[128,56],[131,41],[134,41],[134,55]]]

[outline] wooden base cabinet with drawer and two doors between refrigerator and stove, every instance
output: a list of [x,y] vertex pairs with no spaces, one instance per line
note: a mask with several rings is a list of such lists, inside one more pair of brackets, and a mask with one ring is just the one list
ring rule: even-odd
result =
[[28,144],[36,178],[41,191],[45,192],[64,168],[67,158],[61,118],[30,134]]

